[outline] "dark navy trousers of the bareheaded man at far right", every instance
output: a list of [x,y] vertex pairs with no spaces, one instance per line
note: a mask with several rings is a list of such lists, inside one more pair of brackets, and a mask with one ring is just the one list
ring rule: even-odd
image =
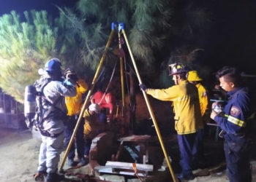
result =
[[[239,143],[233,143],[233,145],[239,145]],[[249,163],[249,146],[247,149],[236,150],[227,145],[227,141],[224,143],[226,165],[227,165],[227,177],[230,182],[252,182],[252,172],[250,170]],[[239,147],[239,146],[238,146]]]

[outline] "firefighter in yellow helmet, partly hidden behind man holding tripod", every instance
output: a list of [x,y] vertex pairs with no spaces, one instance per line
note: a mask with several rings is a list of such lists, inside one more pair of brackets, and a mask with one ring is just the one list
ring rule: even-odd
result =
[[[210,120],[210,112],[208,109],[208,95],[206,88],[203,87],[203,85],[200,83],[203,79],[201,79],[197,71],[189,71],[189,75],[187,77],[187,80],[195,84],[198,90],[199,95],[199,102],[200,102],[200,109],[201,114],[203,116],[203,124],[204,128],[206,127],[206,123]],[[204,164],[204,146],[203,146],[203,137],[204,137],[204,128],[197,131],[197,138],[195,147],[193,150],[193,163],[195,167],[200,167],[200,165]]]

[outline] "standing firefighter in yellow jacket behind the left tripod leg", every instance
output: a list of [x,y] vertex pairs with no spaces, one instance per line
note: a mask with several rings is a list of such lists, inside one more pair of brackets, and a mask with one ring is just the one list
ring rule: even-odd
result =
[[[72,78],[76,82],[76,90],[77,95],[73,98],[66,97],[65,102],[67,106],[67,116],[68,121],[65,125],[65,147],[67,148],[69,141],[71,139],[73,130],[75,129],[75,125],[78,122],[78,116],[80,114],[81,107],[83,106],[82,103],[82,94],[86,92],[88,89],[88,85],[83,79],[78,79],[77,74],[75,74],[75,71],[67,68],[67,70],[64,72],[64,76],[66,78]],[[75,141],[77,146],[77,152],[78,152],[78,159],[80,159],[80,162],[78,165],[86,165],[86,159],[83,156],[84,151],[84,140],[83,140],[83,124],[84,121],[82,120],[80,122],[80,125],[78,127],[78,131],[76,133]],[[72,143],[72,146],[69,150],[69,154],[67,154],[68,157],[68,165],[74,166],[74,158],[75,158],[75,143]]]

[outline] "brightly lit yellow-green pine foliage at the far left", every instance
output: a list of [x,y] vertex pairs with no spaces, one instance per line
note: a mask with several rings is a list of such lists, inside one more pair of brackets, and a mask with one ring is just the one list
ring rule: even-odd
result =
[[46,11],[24,12],[24,17],[15,11],[0,17],[0,87],[21,103],[26,85],[39,78],[38,69],[53,57],[65,65],[67,47],[73,46]]

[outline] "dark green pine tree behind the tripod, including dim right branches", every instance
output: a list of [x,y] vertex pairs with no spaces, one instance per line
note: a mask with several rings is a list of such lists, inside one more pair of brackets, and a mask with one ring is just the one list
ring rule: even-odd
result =
[[[81,46],[83,49],[80,50],[80,60],[82,63],[89,63],[91,68],[97,68],[102,55],[101,48],[105,46],[110,34],[110,24],[123,22],[139,70],[146,71],[159,79],[159,68],[162,64],[165,64],[165,68],[167,67],[166,60],[168,59],[166,58],[169,58],[170,53],[178,48],[173,46],[173,42],[177,42],[177,39],[181,37],[183,40],[191,41],[191,37],[200,30],[200,27],[206,25],[204,21],[207,21],[207,18],[204,9],[199,9],[188,3],[180,6],[179,3],[179,1],[169,0],[78,1],[76,7],[80,15],[79,18],[84,20],[84,27],[80,29],[81,33],[78,33],[80,34],[80,43],[83,45]],[[181,9],[179,9],[180,7]],[[67,17],[75,17],[75,14],[67,9],[62,9],[62,12]],[[76,20],[79,18],[75,21],[72,18],[70,18],[71,22],[78,23]],[[89,28],[93,30],[91,33]],[[128,52],[126,53],[128,55]],[[127,60],[128,58],[129,56],[127,56]],[[110,63],[111,61],[107,65]],[[135,85],[137,82],[131,69],[129,77],[130,111],[134,111],[131,118],[135,120],[133,108],[136,106]]]

